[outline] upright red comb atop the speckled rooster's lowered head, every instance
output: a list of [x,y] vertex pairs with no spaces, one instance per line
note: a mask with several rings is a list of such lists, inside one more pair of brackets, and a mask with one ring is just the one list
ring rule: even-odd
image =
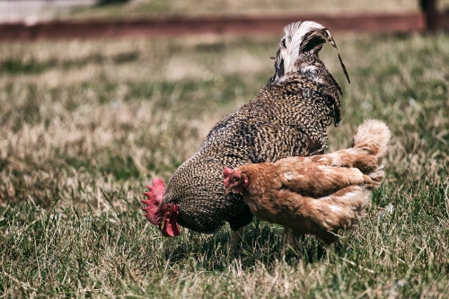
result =
[[148,192],[144,192],[148,199],[142,199],[142,203],[146,205],[143,208],[145,211],[145,217],[151,224],[159,225],[161,223],[161,217],[159,212],[159,206],[163,202],[163,192],[165,191],[165,183],[162,179],[154,179],[153,186],[146,186]]

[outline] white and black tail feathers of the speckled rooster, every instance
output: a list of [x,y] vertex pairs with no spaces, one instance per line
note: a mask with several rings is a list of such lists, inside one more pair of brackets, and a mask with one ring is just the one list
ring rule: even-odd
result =
[[[313,21],[294,22],[284,28],[284,35],[277,47],[274,82],[284,81],[285,75],[295,71],[295,62],[301,53],[312,52],[318,54],[326,40],[330,42],[339,55],[339,49],[330,31],[321,24]],[[350,83],[346,66],[339,56],[339,63]]]

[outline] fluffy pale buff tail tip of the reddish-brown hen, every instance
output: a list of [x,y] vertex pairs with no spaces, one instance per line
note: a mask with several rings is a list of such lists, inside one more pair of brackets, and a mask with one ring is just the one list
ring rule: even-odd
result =
[[378,159],[387,153],[387,144],[392,136],[390,129],[378,119],[366,119],[358,126],[352,139],[352,147],[363,148]]

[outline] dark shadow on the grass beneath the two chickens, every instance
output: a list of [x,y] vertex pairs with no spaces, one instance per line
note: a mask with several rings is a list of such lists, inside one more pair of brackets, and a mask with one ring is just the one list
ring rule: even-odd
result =
[[[164,259],[171,266],[184,264],[193,259],[197,268],[206,271],[225,271],[233,263],[233,256],[229,254],[227,245],[230,240],[230,231],[222,230],[215,235],[206,235],[194,232],[184,232],[180,242],[172,242],[164,252]],[[173,240],[174,241],[174,240]],[[289,265],[295,265],[299,260],[304,263],[316,263],[327,259],[326,250],[321,242],[313,236],[304,240],[304,252],[299,255],[287,247],[285,256],[284,229],[279,225],[267,224],[255,220],[245,228],[240,243],[242,269],[262,263],[268,267],[274,266],[277,260],[285,260]],[[334,253],[343,256],[346,249],[340,242],[335,243]]]

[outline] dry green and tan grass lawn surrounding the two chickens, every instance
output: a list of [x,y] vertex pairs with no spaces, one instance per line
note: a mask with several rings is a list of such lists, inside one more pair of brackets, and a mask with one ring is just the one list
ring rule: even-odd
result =
[[[449,297],[449,36],[337,34],[322,57],[343,87],[348,146],[365,118],[392,143],[387,179],[330,262],[282,256],[282,228],[254,221],[163,238],[140,198],[272,75],[278,37],[0,44],[0,297]],[[392,213],[387,213],[391,211]]]

